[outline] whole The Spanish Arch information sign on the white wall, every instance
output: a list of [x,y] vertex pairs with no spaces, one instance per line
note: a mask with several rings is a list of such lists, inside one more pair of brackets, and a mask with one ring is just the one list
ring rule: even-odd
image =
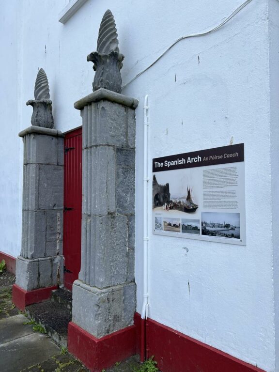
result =
[[246,244],[244,144],[153,159],[153,233]]

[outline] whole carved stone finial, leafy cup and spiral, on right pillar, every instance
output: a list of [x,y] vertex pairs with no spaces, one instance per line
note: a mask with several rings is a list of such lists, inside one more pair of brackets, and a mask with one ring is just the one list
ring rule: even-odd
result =
[[97,42],[97,51],[87,56],[87,61],[93,62],[96,71],[93,81],[93,91],[100,88],[121,93],[120,70],[124,55],[119,53],[117,30],[110,10],[103,16]]

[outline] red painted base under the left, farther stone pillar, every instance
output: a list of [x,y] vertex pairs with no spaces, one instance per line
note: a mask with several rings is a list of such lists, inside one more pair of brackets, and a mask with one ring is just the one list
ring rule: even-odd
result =
[[25,307],[37,302],[42,302],[50,298],[51,291],[57,289],[57,286],[34,289],[33,291],[25,291],[18,285],[13,285],[13,303],[16,307],[24,311]]

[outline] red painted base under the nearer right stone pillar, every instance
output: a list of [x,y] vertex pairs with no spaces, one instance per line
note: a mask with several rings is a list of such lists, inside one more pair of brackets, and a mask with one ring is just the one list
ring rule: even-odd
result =
[[68,350],[91,372],[101,372],[136,354],[136,326],[97,339],[75,323],[68,325]]

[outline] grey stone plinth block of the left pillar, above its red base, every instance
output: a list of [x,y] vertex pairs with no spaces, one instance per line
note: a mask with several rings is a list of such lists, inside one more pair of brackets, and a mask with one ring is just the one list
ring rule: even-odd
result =
[[63,282],[63,256],[16,259],[16,284],[25,291],[57,287]]

